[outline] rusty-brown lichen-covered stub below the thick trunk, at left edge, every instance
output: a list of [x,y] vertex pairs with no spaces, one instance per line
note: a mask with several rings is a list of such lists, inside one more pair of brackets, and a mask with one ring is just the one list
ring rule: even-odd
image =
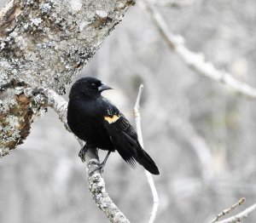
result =
[[26,139],[33,118],[47,106],[44,95],[24,82],[12,80],[0,86],[0,157]]

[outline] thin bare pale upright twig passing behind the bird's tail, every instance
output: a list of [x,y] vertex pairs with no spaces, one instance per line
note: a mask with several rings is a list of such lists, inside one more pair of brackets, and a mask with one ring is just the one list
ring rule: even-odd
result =
[[[141,84],[141,86],[139,88],[139,91],[137,94],[137,100],[136,100],[133,112],[134,112],[134,117],[135,117],[135,121],[136,121],[138,140],[139,140],[141,146],[144,147],[143,146],[143,134],[142,134],[142,128],[141,128],[141,116],[140,116],[140,111],[139,111],[139,104],[140,104],[142,93],[143,93],[143,84]],[[158,197],[158,193],[154,186],[154,180],[153,180],[152,174],[148,173],[147,170],[145,170],[145,174],[147,176],[148,184],[150,186],[150,189],[151,189],[151,192],[153,195],[153,201],[154,201],[153,209],[151,211],[150,219],[148,220],[148,223],[153,223],[157,209],[158,209],[158,205],[159,205],[159,197]]]

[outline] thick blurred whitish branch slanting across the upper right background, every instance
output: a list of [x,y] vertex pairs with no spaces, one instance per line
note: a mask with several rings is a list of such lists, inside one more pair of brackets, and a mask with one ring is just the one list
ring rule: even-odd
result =
[[186,48],[183,37],[176,36],[169,31],[166,21],[161,14],[157,12],[154,5],[146,0],[141,0],[138,3],[148,13],[149,18],[153,21],[154,26],[156,26],[157,31],[159,31],[160,36],[166,42],[169,49],[172,49],[179,55],[187,66],[204,77],[209,77],[214,81],[223,83],[236,91],[236,93],[243,94],[249,98],[256,98],[256,89],[247,83],[236,80],[229,72],[218,70],[212,63],[205,60],[203,54],[196,54]]

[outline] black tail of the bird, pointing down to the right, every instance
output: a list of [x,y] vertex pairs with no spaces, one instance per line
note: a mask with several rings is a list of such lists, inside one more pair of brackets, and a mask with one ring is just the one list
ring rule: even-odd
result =
[[153,159],[149,157],[148,153],[143,150],[143,148],[137,149],[137,163],[143,165],[144,169],[147,169],[151,174],[160,174],[159,170],[154,163]]

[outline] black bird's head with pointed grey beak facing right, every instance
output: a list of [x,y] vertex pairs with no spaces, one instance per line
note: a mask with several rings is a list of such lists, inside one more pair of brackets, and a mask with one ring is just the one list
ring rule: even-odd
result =
[[83,77],[73,83],[70,89],[69,98],[73,96],[97,97],[102,91],[112,89],[95,77]]

